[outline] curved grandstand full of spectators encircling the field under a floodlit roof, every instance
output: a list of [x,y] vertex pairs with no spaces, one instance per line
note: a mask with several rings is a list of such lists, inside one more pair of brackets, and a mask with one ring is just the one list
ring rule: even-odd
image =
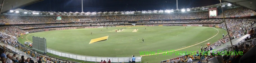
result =
[[[6,11],[0,15],[0,48],[5,50],[6,54],[17,54],[17,57],[24,55],[24,58],[33,57],[32,60],[35,62],[42,58],[42,62],[56,63],[61,61],[62,63],[95,63],[101,62],[100,60],[111,59],[112,62],[129,62],[132,57],[121,57],[125,55],[120,55],[120,57],[102,57],[102,56],[87,56],[79,55],[70,52],[61,52],[60,50],[54,50],[47,48],[47,54],[39,53],[24,44],[25,36],[34,34],[36,32],[43,31],[62,31],[64,29],[99,29],[99,28],[128,28],[128,27],[153,27],[153,26],[197,26],[197,27],[211,27],[220,28],[228,30],[229,36],[224,33],[223,38],[212,42],[211,45],[206,46],[204,51],[215,52],[232,50],[239,50],[244,53],[244,56],[250,56],[253,54],[252,50],[255,49],[255,32],[256,30],[256,20],[255,10],[244,8],[237,5],[229,5],[230,3],[222,3],[226,6],[224,16],[226,27],[223,19],[223,12],[219,12],[216,17],[209,17],[210,7],[216,7],[220,10],[220,4],[198,7],[198,8],[188,8],[180,10],[154,10],[154,11],[112,11],[112,12],[43,12],[43,11],[33,11],[24,10],[16,8],[10,11]],[[184,10],[184,11],[183,11]],[[191,11],[190,11],[191,10]],[[16,11],[19,11],[18,13]],[[26,12],[26,13],[25,13]],[[34,13],[33,13],[34,12]],[[61,16],[61,20],[56,20],[57,16]],[[135,26],[132,24],[136,24]],[[119,30],[118,29],[118,30]],[[146,29],[146,28],[145,28]],[[101,29],[102,30],[102,29]],[[121,29],[120,29],[121,30]],[[134,29],[135,30],[135,29]],[[137,29],[136,29],[137,30]],[[141,29],[140,29],[141,30]],[[112,31],[110,31],[112,32]],[[125,31],[124,31],[125,32]],[[219,31],[218,31],[219,32]],[[18,38],[22,38],[19,40]],[[233,45],[230,45],[230,39]],[[26,40],[29,39],[26,38]],[[104,39],[106,40],[106,39]],[[138,39],[139,40],[139,39]],[[101,40],[99,40],[101,41]],[[100,43],[96,41],[97,43]],[[94,44],[94,43],[92,43]],[[198,43],[199,44],[199,43]],[[201,45],[201,44],[200,44]],[[206,45],[206,44],[205,44]],[[191,45],[188,45],[191,46]],[[199,45],[195,45],[199,47]],[[187,46],[180,46],[180,48]],[[238,48],[237,48],[238,47]],[[104,47],[103,47],[104,48]],[[181,48],[181,49],[182,49]],[[184,50],[183,49],[183,50]],[[177,49],[178,50],[178,49]],[[200,48],[198,48],[200,50]],[[212,52],[209,52],[211,54]],[[179,57],[168,57],[154,60],[151,57],[146,56],[136,56],[136,62],[160,62],[160,63],[178,63],[178,62],[188,62],[191,56],[193,63],[197,62],[209,62],[205,58],[208,55],[202,55],[205,52],[193,52],[197,55],[184,54]],[[224,52],[229,53],[229,52]],[[161,53],[162,54],[162,53]],[[129,54],[131,55],[131,54]],[[255,54],[254,54],[255,55]],[[118,55],[117,55],[118,56]],[[234,56],[221,56],[223,57],[225,63],[227,62],[246,62],[246,57],[243,55]],[[142,58],[143,57],[143,58]],[[145,57],[145,58],[144,58]],[[158,56],[159,58],[160,56]],[[230,58],[227,58],[230,57]],[[89,59],[90,58],[90,59]],[[255,58],[249,57],[249,58]],[[160,61],[162,60],[162,61]],[[239,61],[240,60],[240,61]],[[247,61],[248,62],[248,61]],[[246,63],[247,63],[246,62]]]

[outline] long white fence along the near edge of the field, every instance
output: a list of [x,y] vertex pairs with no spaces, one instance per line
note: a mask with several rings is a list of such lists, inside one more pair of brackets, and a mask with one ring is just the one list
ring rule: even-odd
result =
[[[62,57],[68,57],[72,59],[84,60],[84,61],[92,61],[92,62],[101,62],[101,60],[108,60],[110,59],[111,62],[129,62],[131,61],[132,57],[93,57],[93,56],[85,56],[85,55],[77,55],[67,52],[59,52],[56,50],[52,50],[47,48],[46,52],[59,55]],[[142,57],[135,57],[135,62],[141,62]]]

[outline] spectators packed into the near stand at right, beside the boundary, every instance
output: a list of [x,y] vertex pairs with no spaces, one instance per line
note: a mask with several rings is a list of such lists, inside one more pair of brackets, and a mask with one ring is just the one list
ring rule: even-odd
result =
[[[250,34],[250,38],[247,37],[244,39],[244,41],[255,38],[255,29],[256,29],[255,21],[256,21],[255,19],[253,19],[253,20],[230,19],[230,20],[226,21],[227,28],[229,30],[228,32],[230,33],[230,38],[231,39],[239,38],[245,34]],[[216,26],[219,26],[219,27],[225,29],[224,23],[216,24]],[[250,32],[247,32],[247,31],[250,31]],[[253,33],[253,35],[252,35],[252,33]],[[207,61],[210,61],[212,63],[236,63],[241,58],[241,55],[217,55],[218,53],[211,53],[209,55],[204,55],[205,51],[213,50],[214,48],[216,48],[220,45],[223,45],[223,44],[227,43],[228,41],[229,41],[228,36],[224,36],[222,39],[219,39],[217,42],[213,43],[212,45],[201,46],[201,50],[203,50],[204,52],[197,51],[197,52],[195,52],[194,55],[191,55],[191,54],[185,55],[184,59],[180,58],[179,60],[175,60],[175,58],[174,58],[174,59],[167,60],[168,62],[165,62],[165,63],[191,62],[191,61],[203,60],[203,59],[205,59],[205,60],[207,59]],[[249,44],[239,44],[238,43],[236,45],[233,45],[234,50],[231,49],[225,53],[231,54],[233,51],[247,52],[253,46],[255,48],[255,41],[251,42]],[[210,59],[208,59],[208,58],[210,58]],[[198,61],[198,63],[201,63],[201,62]]]

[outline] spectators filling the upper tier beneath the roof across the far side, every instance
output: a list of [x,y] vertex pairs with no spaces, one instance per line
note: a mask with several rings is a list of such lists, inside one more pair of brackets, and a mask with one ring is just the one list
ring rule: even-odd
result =
[[[225,16],[242,16],[255,13],[243,7],[231,8],[224,11]],[[1,15],[0,23],[60,23],[60,22],[88,22],[88,21],[134,21],[134,20],[173,20],[173,19],[201,19],[208,18],[208,11],[170,13],[170,14],[142,14],[142,15],[90,15],[90,16],[62,16],[56,20],[55,16],[18,16]],[[218,17],[223,17],[222,13]]]

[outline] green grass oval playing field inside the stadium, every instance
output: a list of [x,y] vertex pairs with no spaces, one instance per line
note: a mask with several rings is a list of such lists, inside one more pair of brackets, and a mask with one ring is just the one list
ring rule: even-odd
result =
[[[201,45],[218,41],[223,33],[226,35],[226,31],[221,28],[196,26],[186,26],[186,29],[184,26],[126,27],[121,32],[115,32],[122,28],[125,29],[124,27],[108,27],[108,29],[88,28],[35,32],[22,35],[23,38],[19,37],[18,41],[24,44],[24,41],[32,41],[32,36],[38,36],[46,38],[47,48],[62,52],[98,57],[131,57],[132,55],[140,56],[142,51],[162,50],[164,52],[188,46],[190,47],[178,51],[196,51],[200,50]],[[132,32],[134,29],[138,31]],[[109,36],[106,41],[89,44],[91,39],[104,36]],[[145,43],[142,43],[142,38]],[[207,39],[209,40],[205,41]],[[202,41],[205,42],[201,43]],[[180,55],[143,56],[142,63],[158,63],[161,60],[178,56]]]

